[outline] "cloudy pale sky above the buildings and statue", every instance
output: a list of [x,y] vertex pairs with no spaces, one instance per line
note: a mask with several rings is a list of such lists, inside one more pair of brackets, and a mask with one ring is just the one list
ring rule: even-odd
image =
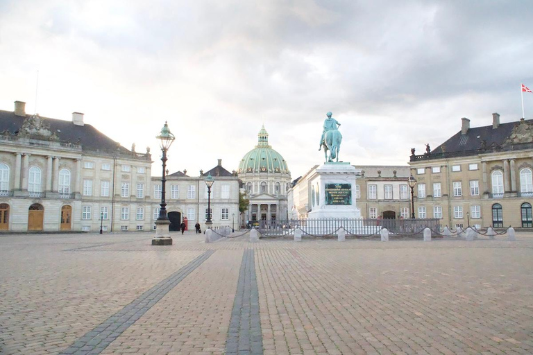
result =
[[[0,110],[84,112],[126,148],[150,146],[155,174],[164,121],[169,168],[189,175],[217,158],[237,169],[264,123],[292,178],[323,162],[331,111],[342,160],[403,165],[462,117],[521,118],[532,18],[528,0],[0,0]],[[533,94],[524,104],[533,118]]]

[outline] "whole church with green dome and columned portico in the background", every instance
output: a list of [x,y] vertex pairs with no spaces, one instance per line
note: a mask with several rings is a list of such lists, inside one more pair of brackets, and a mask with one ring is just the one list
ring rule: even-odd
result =
[[239,162],[237,174],[250,200],[246,220],[287,220],[287,191],[291,172],[280,153],[269,145],[269,134],[262,126],[257,146]]

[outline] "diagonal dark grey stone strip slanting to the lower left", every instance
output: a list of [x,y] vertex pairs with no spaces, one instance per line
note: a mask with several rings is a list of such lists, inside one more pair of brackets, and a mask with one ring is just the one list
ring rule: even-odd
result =
[[151,307],[159,302],[172,288],[179,284],[194,269],[207,260],[214,250],[208,250],[199,257],[174,272],[159,284],[137,297],[133,302],[110,316],[103,323],[97,325],[92,331],[76,340],[67,349],[60,352],[66,354],[100,354],[115,339],[117,339],[131,324],[135,323]]

